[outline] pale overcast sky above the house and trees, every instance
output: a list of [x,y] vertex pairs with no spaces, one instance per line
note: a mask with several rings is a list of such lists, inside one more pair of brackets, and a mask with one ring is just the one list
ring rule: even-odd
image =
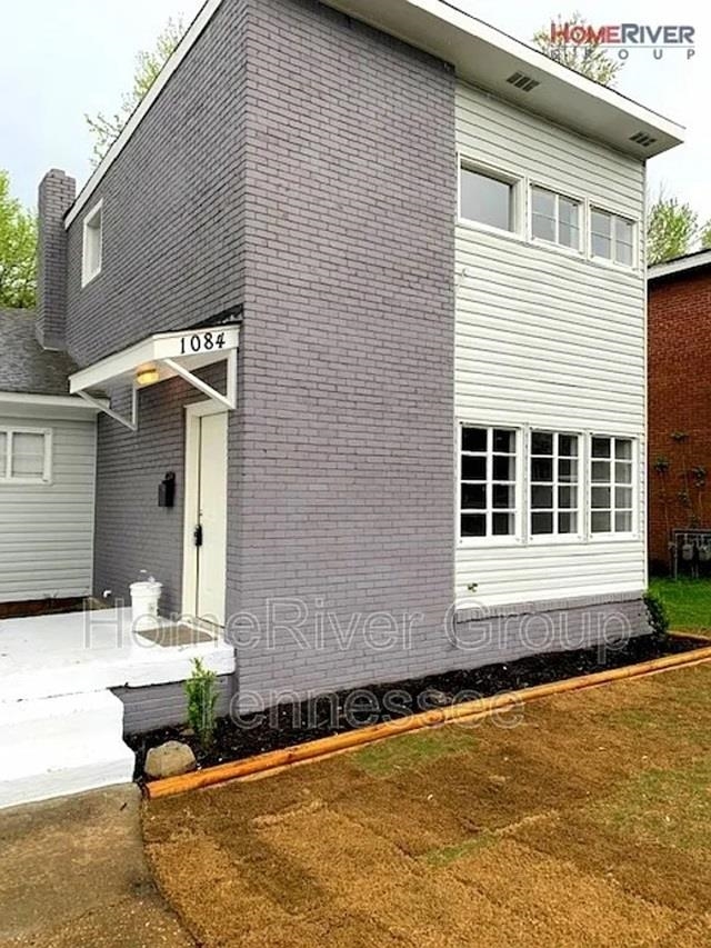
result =
[[[385,0],[387,1],[387,0]],[[711,4],[678,0],[454,0],[510,36],[530,41],[559,11],[579,10],[595,26],[633,22],[695,27],[697,53],[633,50],[617,88],[687,127],[687,141],[650,161],[650,189],[688,201],[711,218]],[[0,168],[26,204],[49,168],[81,184],[90,173],[92,141],[84,113],[111,113],[130,88],[136,54],[151,49],[167,20],[189,22],[201,0],[23,0],[3,10],[0,58]]]

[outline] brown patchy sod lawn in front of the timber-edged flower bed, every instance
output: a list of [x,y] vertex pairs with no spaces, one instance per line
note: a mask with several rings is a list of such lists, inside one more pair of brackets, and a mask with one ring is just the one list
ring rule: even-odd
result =
[[143,810],[206,948],[711,946],[711,666]]

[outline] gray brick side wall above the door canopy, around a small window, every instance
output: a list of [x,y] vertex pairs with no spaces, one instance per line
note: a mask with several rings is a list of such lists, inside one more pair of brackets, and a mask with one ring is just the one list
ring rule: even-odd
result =
[[[247,6],[220,7],[70,228],[81,366],[242,301]],[[82,221],[100,198],[102,270],[82,289]]]

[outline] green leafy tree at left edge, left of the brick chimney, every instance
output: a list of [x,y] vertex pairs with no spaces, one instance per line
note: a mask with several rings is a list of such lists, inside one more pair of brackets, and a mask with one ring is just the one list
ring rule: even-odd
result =
[[37,217],[10,194],[0,169],[0,306],[32,307],[37,289]]

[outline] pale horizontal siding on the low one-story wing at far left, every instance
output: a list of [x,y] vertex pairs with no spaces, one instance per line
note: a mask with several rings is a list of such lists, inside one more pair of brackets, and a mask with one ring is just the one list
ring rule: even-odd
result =
[[52,481],[0,483],[0,602],[91,592],[96,432],[87,421],[0,416],[52,430]]

